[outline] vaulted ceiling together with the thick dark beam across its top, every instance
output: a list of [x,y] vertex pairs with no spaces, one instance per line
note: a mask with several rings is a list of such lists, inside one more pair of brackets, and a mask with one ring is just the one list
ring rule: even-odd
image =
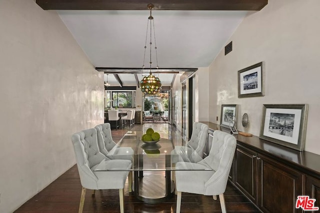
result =
[[[137,85],[136,78],[142,77],[137,68],[143,64],[147,4],[154,4],[158,65],[165,72],[172,71],[160,73],[159,77],[164,85],[170,85],[175,68],[209,66],[248,10],[262,9],[267,0],[159,0],[157,3],[36,0],[36,3],[43,9],[57,10],[98,71],[111,74],[117,71],[122,86],[131,86]],[[135,68],[131,73],[136,75],[128,74],[130,68]],[[119,85],[116,75],[108,75],[112,86]]]

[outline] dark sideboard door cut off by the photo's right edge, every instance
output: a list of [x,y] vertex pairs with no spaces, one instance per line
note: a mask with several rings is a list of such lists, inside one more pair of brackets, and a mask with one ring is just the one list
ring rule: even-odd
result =
[[308,175],[305,176],[304,195],[308,195],[310,198],[315,199],[314,207],[320,208],[320,180],[314,179]]

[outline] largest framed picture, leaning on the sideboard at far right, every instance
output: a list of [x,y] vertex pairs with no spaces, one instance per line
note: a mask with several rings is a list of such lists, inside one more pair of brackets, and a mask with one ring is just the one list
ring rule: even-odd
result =
[[264,104],[260,138],[303,151],[307,104]]

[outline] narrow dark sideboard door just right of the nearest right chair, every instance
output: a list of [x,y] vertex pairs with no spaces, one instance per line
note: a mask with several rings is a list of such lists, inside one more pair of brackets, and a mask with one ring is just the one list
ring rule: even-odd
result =
[[256,203],[256,155],[252,150],[237,146],[233,182],[253,203]]

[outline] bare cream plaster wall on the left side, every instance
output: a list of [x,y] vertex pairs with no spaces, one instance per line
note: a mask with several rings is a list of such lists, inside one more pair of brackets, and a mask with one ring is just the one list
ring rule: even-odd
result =
[[54,11],[0,1],[0,212],[75,164],[74,132],[103,122],[103,73]]

